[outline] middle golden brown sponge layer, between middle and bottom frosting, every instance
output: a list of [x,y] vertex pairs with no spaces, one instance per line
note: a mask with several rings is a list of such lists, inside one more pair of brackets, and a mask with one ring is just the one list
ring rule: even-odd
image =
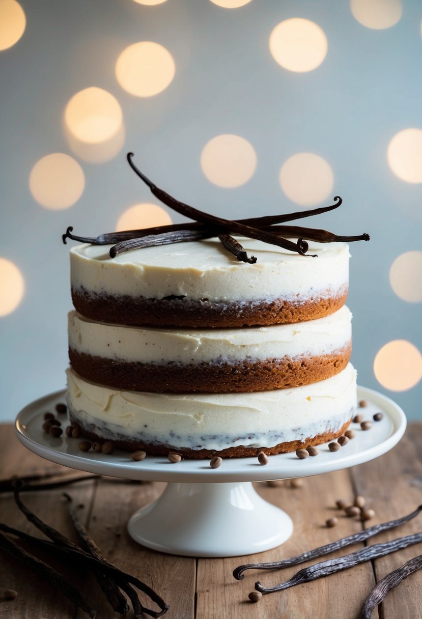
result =
[[165,364],[127,363],[69,350],[72,368],[89,381],[114,389],[162,393],[228,393],[299,387],[338,374],[351,345],[327,355],[291,359]]

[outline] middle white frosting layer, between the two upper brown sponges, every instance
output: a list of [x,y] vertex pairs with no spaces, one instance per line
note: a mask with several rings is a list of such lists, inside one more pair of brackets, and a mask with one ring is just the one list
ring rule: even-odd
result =
[[351,313],[248,329],[153,329],[95,322],[69,313],[69,348],[77,353],[139,363],[265,360],[314,357],[347,347]]

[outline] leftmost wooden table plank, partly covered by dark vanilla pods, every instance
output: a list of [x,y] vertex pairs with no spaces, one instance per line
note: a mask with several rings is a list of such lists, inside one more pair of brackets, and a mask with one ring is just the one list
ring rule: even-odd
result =
[[[11,425],[0,425],[0,470],[1,477],[7,478],[12,475],[43,474],[46,472],[66,471],[73,473],[71,469],[47,462],[41,457],[35,456],[25,449],[15,438]],[[72,487],[75,500],[89,504],[92,496],[93,483],[83,482]],[[67,513],[67,506],[62,500],[62,489],[25,492],[22,499],[30,509],[35,511],[43,521],[61,531],[67,537],[76,541],[73,526]],[[16,529],[43,537],[41,532],[30,524],[25,516],[15,505],[11,494],[0,495],[0,522],[9,524]],[[33,552],[27,547],[29,552]],[[33,552],[35,554],[35,552]],[[41,554],[37,556],[43,558]],[[47,555],[45,555],[47,560]],[[58,565],[56,565],[59,568]],[[82,584],[82,578],[74,578],[71,570],[59,571],[71,577],[76,586]],[[51,589],[37,574],[20,563],[17,559],[1,553],[0,561],[0,592],[4,589],[15,589],[18,597],[12,601],[6,601],[0,597],[0,615],[7,619],[74,619],[75,605],[72,604],[60,592]],[[87,615],[85,615],[86,617]]]

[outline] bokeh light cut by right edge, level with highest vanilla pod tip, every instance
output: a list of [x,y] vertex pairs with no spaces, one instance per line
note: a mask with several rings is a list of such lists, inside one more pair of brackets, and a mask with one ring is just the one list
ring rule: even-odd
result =
[[422,183],[422,130],[403,129],[387,149],[390,169],[407,183]]

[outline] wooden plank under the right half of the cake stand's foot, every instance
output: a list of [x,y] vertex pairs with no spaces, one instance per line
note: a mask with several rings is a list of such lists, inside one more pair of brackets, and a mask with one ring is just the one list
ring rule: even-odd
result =
[[[248,600],[248,594],[254,590],[257,580],[265,586],[274,586],[316,561],[281,571],[248,571],[242,581],[236,581],[232,576],[233,569],[238,565],[281,560],[361,530],[359,521],[343,516],[334,507],[335,500],[339,498],[350,501],[354,498],[350,473],[342,470],[306,478],[303,487],[295,489],[288,487],[288,482],[282,487],[259,484],[256,488],[265,500],[293,517],[293,535],[282,546],[257,555],[200,559],[197,569],[197,619],[355,619],[361,603],[374,586],[370,564],[356,566],[353,573],[345,571],[283,592],[264,595],[257,604]],[[325,521],[331,516],[338,517],[338,525],[329,529]],[[223,522],[221,526],[224,526]],[[265,522],[262,526],[265,527]],[[360,544],[350,548],[352,551],[362,547]],[[343,553],[345,551],[329,556],[340,556]]]

